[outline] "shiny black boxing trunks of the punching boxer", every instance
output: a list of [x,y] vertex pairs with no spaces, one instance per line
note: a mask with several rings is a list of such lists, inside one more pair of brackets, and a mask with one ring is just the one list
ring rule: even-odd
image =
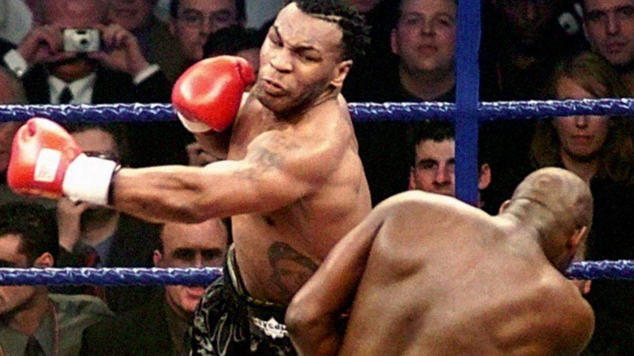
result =
[[297,355],[283,324],[286,307],[247,293],[229,248],[223,277],[202,296],[194,316],[192,356]]

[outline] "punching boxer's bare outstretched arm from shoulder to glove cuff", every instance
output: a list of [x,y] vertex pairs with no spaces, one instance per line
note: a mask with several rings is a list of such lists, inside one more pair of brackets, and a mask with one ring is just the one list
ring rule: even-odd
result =
[[114,177],[110,203],[150,221],[271,212],[313,191],[339,164],[335,151],[292,133],[266,132],[240,161],[122,169]]

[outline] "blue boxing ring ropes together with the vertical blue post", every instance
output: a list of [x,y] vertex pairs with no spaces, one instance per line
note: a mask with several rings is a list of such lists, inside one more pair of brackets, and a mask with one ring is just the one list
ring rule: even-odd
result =
[[[634,99],[565,101],[479,101],[478,49],[480,1],[460,1],[456,33],[456,103],[351,103],[358,122],[453,120],[456,125],[456,196],[477,200],[477,143],[479,124],[486,120],[547,118],[569,115],[633,115]],[[116,105],[0,105],[0,122],[44,117],[57,122],[151,122],[175,120],[166,104]],[[566,275],[574,279],[634,279],[634,260],[574,262]],[[60,286],[155,285],[212,283],[222,270],[159,268],[0,269],[0,285]]]

